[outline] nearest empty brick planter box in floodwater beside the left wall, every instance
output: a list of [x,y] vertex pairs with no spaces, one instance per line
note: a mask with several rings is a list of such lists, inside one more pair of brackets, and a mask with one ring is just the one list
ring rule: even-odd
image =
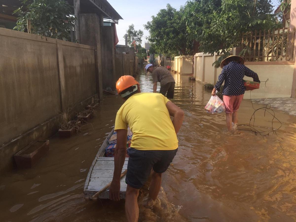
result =
[[49,150],[49,140],[33,141],[14,155],[17,168],[31,168]]

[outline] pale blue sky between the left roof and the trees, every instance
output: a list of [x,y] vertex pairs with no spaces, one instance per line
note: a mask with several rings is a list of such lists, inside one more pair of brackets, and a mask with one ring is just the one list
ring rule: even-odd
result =
[[[107,0],[112,7],[118,12],[118,14],[123,18],[123,20],[118,21],[116,24],[117,36],[119,39],[119,45],[125,45],[124,35],[128,26],[134,24],[135,29],[141,29],[144,32],[142,38],[142,46],[145,46],[146,37],[149,36],[149,32],[144,29],[144,24],[151,21],[152,15],[157,15],[160,9],[166,8],[169,3],[175,9],[180,9],[180,6],[186,4],[187,0],[150,0],[150,1],[122,1],[122,0]],[[279,5],[279,0],[271,0],[271,4],[274,5],[276,9]]]

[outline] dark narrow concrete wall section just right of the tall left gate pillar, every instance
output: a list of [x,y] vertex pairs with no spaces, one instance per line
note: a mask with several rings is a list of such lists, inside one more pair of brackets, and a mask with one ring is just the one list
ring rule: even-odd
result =
[[101,53],[103,89],[115,90],[114,27],[101,26]]

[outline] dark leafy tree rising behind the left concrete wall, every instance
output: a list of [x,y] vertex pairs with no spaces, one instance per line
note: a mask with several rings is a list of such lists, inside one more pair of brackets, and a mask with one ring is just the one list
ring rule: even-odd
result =
[[23,6],[14,13],[18,14],[15,30],[28,30],[33,34],[69,41],[70,30],[74,29],[76,17],[73,7],[65,0],[25,0]]

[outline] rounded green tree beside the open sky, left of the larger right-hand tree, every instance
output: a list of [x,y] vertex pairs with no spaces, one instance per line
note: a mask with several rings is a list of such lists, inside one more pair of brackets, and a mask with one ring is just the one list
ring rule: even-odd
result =
[[191,54],[192,41],[188,41],[186,21],[182,20],[184,8],[179,11],[167,4],[152,20],[144,25],[149,31],[149,42],[154,43],[155,50],[166,55]]

